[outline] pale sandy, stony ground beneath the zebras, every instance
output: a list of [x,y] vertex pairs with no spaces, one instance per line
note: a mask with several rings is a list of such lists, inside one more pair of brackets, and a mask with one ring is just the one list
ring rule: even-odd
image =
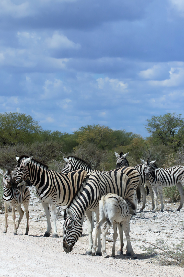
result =
[[[177,266],[161,266],[155,264],[153,258],[144,257],[139,247],[132,243],[137,260],[119,255],[115,258],[103,258],[86,256],[84,253],[88,248],[87,224],[84,221],[83,234],[79,241],[74,245],[71,253],[65,253],[62,247],[63,240],[63,218],[57,217],[57,228],[59,238],[43,237],[46,231],[46,218],[44,209],[36,197],[35,188],[31,187],[30,199],[30,231],[25,236],[26,217],[23,216],[22,222],[14,235],[13,221],[11,213],[8,217],[7,234],[3,234],[4,214],[0,214],[0,276],[69,276],[69,277],[94,277],[94,276],[168,276],[183,277],[184,269]],[[184,209],[177,212],[179,203],[164,203],[165,212],[151,213],[151,201],[148,198],[145,212],[138,213],[135,220],[130,221],[130,237],[146,239],[154,242],[156,238],[163,238],[166,243],[179,243],[184,239],[182,230],[182,220],[184,219]],[[138,205],[138,211],[141,204]],[[16,213],[18,219],[18,213]],[[52,223],[52,222],[51,222]],[[112,239],[112,232],[108,239]],[[116,246],[118,249],[117,240]],[[126,241],[125,241],[126,244]],[[106,242],[106,250],[111,255],[113,243]],[[126,253],[126,248],[124,248]]]

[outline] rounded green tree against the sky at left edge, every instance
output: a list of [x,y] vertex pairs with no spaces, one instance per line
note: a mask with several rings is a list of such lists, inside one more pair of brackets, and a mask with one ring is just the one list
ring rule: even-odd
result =
[[26,114],[5,112],[0,114],[0,144],[14,145],[28,143],[38,139],[42,127],[38,121]]

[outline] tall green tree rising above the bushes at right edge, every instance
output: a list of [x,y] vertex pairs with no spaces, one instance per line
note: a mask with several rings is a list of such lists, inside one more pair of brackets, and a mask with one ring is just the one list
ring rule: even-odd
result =
[[153,143],[162,143],[174,151],[184,142],[184,120],[181,114],[167,113],[147,119],[146,129],[152,134]]

